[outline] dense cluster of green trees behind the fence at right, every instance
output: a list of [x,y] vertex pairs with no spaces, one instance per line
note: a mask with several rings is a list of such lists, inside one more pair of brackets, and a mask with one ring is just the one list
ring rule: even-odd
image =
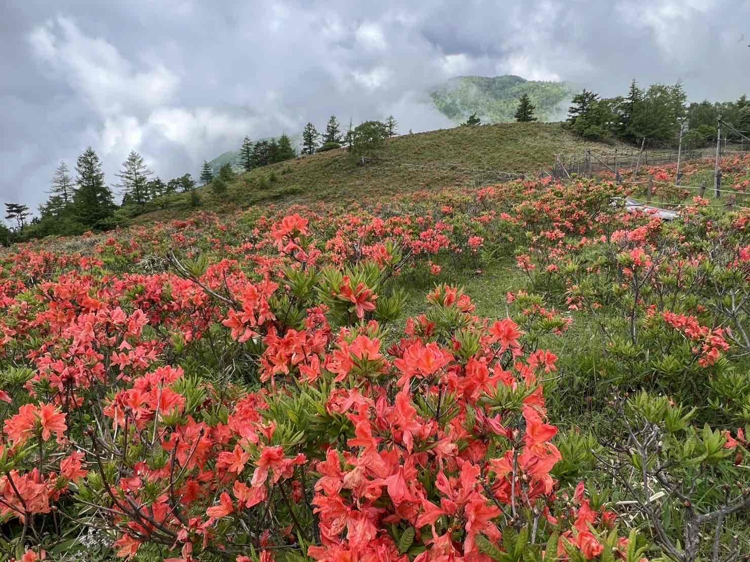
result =
[[702,146],[715,141],[718,118],[750,136],[750,101],[745,95],[733,102],[688,104],[682,82],[641,88],[633,79],[622,96],[599,97],[583,88],[573,97],[566,124],[586,139],[646,139],[651,145],[673,144],[682,128],[685,145]]

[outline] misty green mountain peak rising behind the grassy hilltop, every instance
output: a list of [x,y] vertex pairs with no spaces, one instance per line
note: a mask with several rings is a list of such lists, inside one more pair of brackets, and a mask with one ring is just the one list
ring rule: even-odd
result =
[[514,121],[518,98],[529,94],[539,121],[562,121],[577,88],[570,82],[541,82],[520,76],[455,76],[430,95],[438,111],[460,123],[476,112],[483,123]]

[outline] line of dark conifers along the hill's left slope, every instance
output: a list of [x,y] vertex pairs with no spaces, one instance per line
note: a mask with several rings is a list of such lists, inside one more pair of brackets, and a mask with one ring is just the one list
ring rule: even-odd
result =
[[[397,129],[398,121],[389,115],[386,121],[365,121],[357,127],[353,127],[350,120],[348,130],[343,133],[338,118],[332,115],[323,134],[312,123],[305,126],[300,156],[346,146],[353,157],[363,158],[381,148],[386,138],[396,135]],[[239,154],[240,166],[245,172],[297,157],[286,133],[278,139],[263,139],[255,143],[245,136]],[[29,220],[31,210],[28,205],[5,204],[5,219],[10,228],[0,222],[0,242],[9,244],[49,235],[78,235],[89,230],[124,226],[130,218],[148,211],[156,203],[168,205],[169,196],[175,193],[188,193],[191,206],[200,203],[197,182],[190,174],[163,181],[154,177],[154,172],[148,169],[136,151],[130,151],[115,177],[118,182],[108,186],[101,160],[92,147],[80,154],[74,173],[64,161],[61,162],[52,175],[51,187],[47,191],[49,197],[39,206],[37,216]],[[231,163],[224,164],[214,174],[210,163],[205,160],[199,176],[202,184],[215,194],[225,193],[227,184],[235,178],[236,171]],[[115,202],[115,195],[121,196],[121,205]]]

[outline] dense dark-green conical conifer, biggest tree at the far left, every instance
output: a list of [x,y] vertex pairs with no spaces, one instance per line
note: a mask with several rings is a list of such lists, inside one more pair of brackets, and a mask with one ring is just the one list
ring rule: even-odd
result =
[[110,188],[104,184],[101,161],[90,146],[78,157],[76,172],[78,189],[74,206],[78,220],[89,228],[102,226],[102,221],[112,216],[115,200]]

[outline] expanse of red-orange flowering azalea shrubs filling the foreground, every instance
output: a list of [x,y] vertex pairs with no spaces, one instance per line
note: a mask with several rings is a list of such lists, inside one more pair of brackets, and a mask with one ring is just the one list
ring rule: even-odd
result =
[[[748,497],[748,215],[702,208],[667,225],[612,204],[624,194],[517,181],[5,253],[0,552],[636,562],[712,550],[695,533],[712,513],[742,525]],[[478,265],[519,271],[493,293],[501,314],[446,282],[481,279]],[[581,404],[607,423],[565,417]],[[714,480],[676,485],[700,474]],[[722,532],[718,551],[741,552]]]

